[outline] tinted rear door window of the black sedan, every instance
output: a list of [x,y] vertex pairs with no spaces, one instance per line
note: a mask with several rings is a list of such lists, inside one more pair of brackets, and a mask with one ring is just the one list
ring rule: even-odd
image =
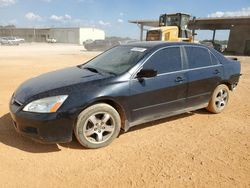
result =
[[212,65],[210,53],[206,48],[186,46],[185,50],[190,69]]

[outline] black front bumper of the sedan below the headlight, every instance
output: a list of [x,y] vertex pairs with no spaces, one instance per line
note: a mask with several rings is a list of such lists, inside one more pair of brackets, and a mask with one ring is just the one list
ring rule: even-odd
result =
[[64,112],[41,114],[22,111],[22,105],[9,104],[18,133],[41,143],[66,143],[72,140],[74,118]]

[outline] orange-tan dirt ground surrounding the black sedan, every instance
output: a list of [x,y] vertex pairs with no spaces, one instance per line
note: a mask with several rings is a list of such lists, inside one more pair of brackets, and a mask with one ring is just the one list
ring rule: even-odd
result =
[[0,46],[0,187],[250,187],[250,57],[219,115],[198,110],[140,125],[106,148],[42,145],[18,135],[8,102],[20,83],[98,53]]

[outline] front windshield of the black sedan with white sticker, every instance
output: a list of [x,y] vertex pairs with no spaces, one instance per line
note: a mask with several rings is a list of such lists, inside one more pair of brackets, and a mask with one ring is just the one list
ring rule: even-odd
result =
[[117,46],[95,57],[80,68],[119,75],[138,63],[146,52],[147,48]]

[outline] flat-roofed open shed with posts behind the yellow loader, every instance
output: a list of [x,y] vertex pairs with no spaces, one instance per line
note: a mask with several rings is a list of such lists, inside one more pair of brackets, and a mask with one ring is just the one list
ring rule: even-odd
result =
[[[140,27],[141,40],[145,26],[158,27],[158,20],[132,20],[130,23]],[[250,55],[250,17],[198,18],[190,21],[189,29],[212,30],[215,39],[216,30],[230,30],[227,51],[235,55]]]

